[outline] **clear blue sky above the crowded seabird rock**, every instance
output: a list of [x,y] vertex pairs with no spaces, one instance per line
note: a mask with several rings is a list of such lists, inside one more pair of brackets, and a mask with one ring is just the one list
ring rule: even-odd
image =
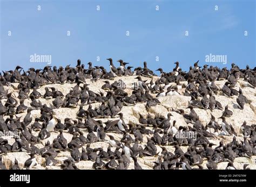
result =
[[227,55],[227,64],[207,63],[221,68],[256,63],[254,0],[0,2],[1,70],[46,66],[30,62],[35,53],[51,55],[51,66],[57,67],[75,66],[79,58],[86,67],[91,61],[108,69],[106,59],[112,57],[116,66],[119,59],[133,67],[146,61],[152,70],[171,71],[179,61],[187,70],[197,60],[206,64],[210,53]]

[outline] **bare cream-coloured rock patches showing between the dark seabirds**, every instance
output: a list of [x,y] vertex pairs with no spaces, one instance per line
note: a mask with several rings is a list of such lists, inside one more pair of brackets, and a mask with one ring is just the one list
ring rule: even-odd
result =
[[[114,81],[122,80],[125,83],[125,91],[128,93],[130,96],[132,93],[132,88],[134,83],[138,83],[138,80],[135,79],[137,76],[123,76],[123,77],[115,77],[114,80],[110,80],[110,83],[113,83]],[[151,78],[147,77],[142,77],[143,80],[147,80],[146,83],[149,83],[151,81]],[[154,76],[153,81],[156,81],[159,77]],[[215,81],[215,84],[221,89],[223,85],[225,84],[226,81]],[[90,80],[86,80],[86,83],[89,84],[89,89],[93,92],[103,92],[104,96],[106,95],[106,91],[101,89],[102,85],[105,84],[103,80],[98,80],[97,82],[92,82]],[[187,82],[182,82],[186,86]],[[65,83],[63,85],[61,84],[49,84],[49,85],[43,85],[41,88],[39,88],[37,91],[39,91],[42,95],[45,93],[45,87],[54,87],[57,90],[61,91],[64,96],[70,92],[70,90],[75,87],[76,84],[70,84],[70,83]],[[9,89],[9,92],[13,92],[14,97],[18,96],[18,90],[15,89],[17,88],[18,84],[13,83],[12,87],[6,87],[4,86],[4,89],[7,90]],[[226,97],[222,94],[215,95],[215,99],[218,100],[218,102],[221,103],[223,110],[217,110],[214,109],[213,111],[207,109],[194,109],[196,113],[199,116],[199,120],[201,123],[205,126],[207,125],[210,120],[211,120],[211,114],[215,117],[215,119],[218,121],[218,123],[221,123],[221,119],[218,119],[219,117],[222,116],[225,106],[228,105],[228,109],[233,112],[233,115],[229,118],[226,118],[226,121],[228,124],[231,124],[234,127],[235,132],[238,134],[237,140],[243,141],[243,135],[240,132],[240,128],[242,123],[244,121],[247,122],[247,125],[252,125],[256,124],[256,90],[251,87],[247,87],[247,82],[239,80],[236,87],[234,89],[239,90],[239,88],[242,89],[243,94],[247,97],[249,103],[245,104],[244,110],[241,110],[238,103],[237,103],[237,98],[238,96],[232,96],[232,97]],[[32,92],[32,90],[30,90]],[[184,88],[179,90],[180,93],[184,92]],[[156,94],[151,94],[153,97],[156,97]],[[199,99],[201,99],[199,97]],[[19,100],[19,99],[18,99]],[[52,105],[52,101],[54,99],[44,99],[44,98],[39,98],[37,100],[40,100],[42,104],[46,104],[47,106]],[[184,117],[177,113],[174,112],[174,110],[178,109],[183,109],[186,114],[190,113],[190,109],[187,109],[187,106],[191,100],[191,97],[184,96],[184,95],[179,95],[179,96],[167,96],[167,97],[159,97],[158,100],[160,101],[160,104],[157,104],[156,106],[152,106],[148,109],[146,109],[146,103],[136,103],[136,105],[131,105],[131,106],[123,106],[122,110],[120,112],[123,113],[123,118],[126,124],[132,124],[132,125],[138,125],[140,116],[143,118],[148,118],[150,116],[151,118],[159,118],[159,117],[165,117],[167,118],[167,114],[171,113],[171,120],[170,123],[173,124],[173,121],[176,120],[176,128],[178,129],[179,126],[193,126],[192,124],[187,124]],[[2,99],[3,105],[5,104],[6,99]],[[26,106],[30,106],[31,100],[30,99],[25,99],[24,104]],[[80,104],[80,103],[79,103]],[[95,109],[95,107],[98,107],[100,103],[92,103],[92,109]],[[83,109],[87,110],[89,105],[84,105]],[[54,111],[54,117],[58,118],[61,120],[62,123],[64,123],[65,118],[71,118],[74,120],[77,120],[77,112],[79,111],[79,106],[74,107],[74,108],[65,108],[65,107],[60,107],[59,109],[53,109]],[[23,121],[24,117],[26,115],[26,112],[24,113],[19,113],[16,114],[17,117],[21,117],[21,121]],[[35,121],[35,118],[39,118],[41,116],[41,111],[40,110],[32,110],[31,111],[31,117],[32,117],[32,123]],[[7,116],[4,116],[4,119],[6,119]],[[107,120],[116,120],[119,119],[118,116],[113,117],[113,118],[106,118],[106,119],[100,119],[105,123]],[[99,120],[99,119],[95,119]],[[32,124],[31,123],[31,124]],[[103,124],[105,127],[105,124]],[[152,127],[146,127],[147,129],[152,130]],[[86,137],[88,132],[86,129],[81,130]],[[33,135],[38,135],[39,132],[32,132]],[[53,142],[55,138],[57,138],[59,132],[51,132],[50,137],[48,139],[42,140],[42,143],[39,143],[36,145],[38,148],[42,148],[47,141],[50,143]],[[95,133],[96,134],[96,133]],[[120,140],[123,138],[123,134],[118,134],[118,133],[112,133],[112,132],[107,132],[108,135],[114,136],[114,139]],[[72,140],[73,135],[68,133],[68,131],[63,132],[64,138],[70,142]],[[130,134],[132,138],[134,138],[133,134]],[[163,134],[160,134],[162,136]],[[140,142],[140,145],[144,148],[147,142],[147,138],[151,138],[153,135],[143,135],[143,142]],[[15,139],[11,136],[2,136],[1,138],[7,139],[9,144],[12,145],[15,142]],[[224,141],[224,143],[231,142],[233,139],[232,136],[221,136],[219,135],[217,138],[211,138],[209,139],[210,142],[215,143],[216,146],[219,145],[219,142],[221,140]],[[133,143],[132,145],[133,146]],[[216,147],[216,146],[213,146]],[[103,148],[103,150],[107,150],[107,147],[109,147],[109,136],[106,136],[105,141],[98,141],[91,143],[90,148]],[[157,147],[157,153],[158,155],[161,155],[162,149],[160,146]],[[168,146],[165,145],[165,147],[169,152],[174,153],[174,146]],[[86,145],[84,146],[86,148]],[[181,146],[181,149],[185,152],[187,152],[188,146]],[[112,151],[115,150],[115,148],[111,148]],[[80,152],[82,152],[82,148],[79,149]],[[26,152],[14,152],[14,153],[7,153],[6,155],[2,156],[3,163],[5,164],[7,169],[10,169],[13,164],[15,159],[17,159],[19,163],[19,167],[24,168],[24,163],[27,159],[29,159],[29,155]],[[70,150],[67,148],[66,151],[60,151],[55,158],[58,161],[58,164],[56,166],[45,166],[45,159],[41,156],[36,155],[36,160],[38,162],[38,166],[36,166],[34,169],[60,169],[60,164],[63,163],[64,160],[69,159],[71,157]],[[143,157],[138,157],[138,163],[143,169],[152,169],[154,166],[154,162],[156,162],[158,159],[158,156],[143,156]],[[251,169],[256,169],[255,165],[255,160],[256,157],[252,156],[251,158],[248,157],[237,157],[234,160],[234,166],[237,167],[237,169],[242,169],[244,164],[250,164],[249,168]],[[104,160],[106,163],[107,161]],[[204,160],[203,163],[203,168],[207,169],[206,167],[207,161]],[[227,167],[228,162],[221,162],[218,163],[218,169],[225,169]],[[79,161],[75,163],[78,169],[93,169],[92,161]],[[131,161],[129,169],[134,169],[134,162]]]

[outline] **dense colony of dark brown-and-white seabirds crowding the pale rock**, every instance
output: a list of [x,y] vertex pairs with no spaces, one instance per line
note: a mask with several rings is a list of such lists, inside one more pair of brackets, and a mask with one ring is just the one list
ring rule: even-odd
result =
[[[26,169],[33,168],[38,164],[35,157],[38,155],[45,158],[46,166],[58,166],[62,169],[78,169],[76,164],[80,161],[92,161],[92,168],[95,169],[127,169],[131,162],[134,163],[134,169],[142,169],[138,158],[144,156],[157,158],[153,169],[203,169],[204,160],[207,160],[208,169],[218,169],[217,164],[224,161],[228,162],[226,169],[235,169],[233,161],[236,157],[251,157],[256,154],[256,125],[246,125],[244,121],[241,124],[244,139],[238,141],[237,132],[226,121],[233,115],[232,111],[215,99],[217,94],[237,96],[236,104],[240,110],[244,110],[248,100],[241,88],[236,90],[234,87],[241,78],[247,82],[247,87],[254,89],[255,68],[246,66],[245,69],[240,69],[234,63],[230,70],[208,65],[202,68],[197,61],[186,72],[181,70],[179,62],[175,62],[176,67],[171,72],[157,69],[160,71],[160,77],[157,77],[147,67],[146,62],[144,67],[137,67],[132,71],[133,67],[126,67],[129,63],[123,60],[118,60],[119,67],[114,66],[111,58],[106,60],[110,62],[109,72],[103,66],[93,66],[92,62],[87,63],[86,68],[80,60],[77,60],[76,67],[45,66],[43,69],[29,68],[25,71],[17,66],[15,70],[3,71],[0,75],[0,131],[18,135],[14,137],[14,143],[0,137],[1,169],[6,169],[2,156],[10,152],[26,152],[30,156],[21,164],[15,158],[10,169],[22,169],[21,166]],[[122,76],[131,76],[137,82],[128,88],[132,90],[131,94],[125,91]],[[116,77],[120,77],[119,81],[110,83]],[[142,77],[150,77],[151,81],[143,81]],[[90,90],[90,83],[99,80],[104,81],[104,92]],[[225,80],[222,88],[214,83],[220,80]],[[18,84],[15,87],[12,83]],[[51,84],[65,83],[74,85],[66,95],[51,87]],[[48,87],[45,87],[44,93],[40,93],[38,89],[43,85]],[[18,96],[8,91],[10,87],[18,90]],[[183,93],[180,91],[182,88],[185,89]],[[139,123],[128,124],[124,120],[124,114],[120,112],[123,106],[133,107],[137,103],[143,103],[146,110],[150,110],[152,106],[161,104],[160,97],[171,96],[168,99],[172,99],[172,96],[181,94],[191,97],[187,107],[189,112],[170,107],[172,112],[183,116],[186,123],[190,124],[187,126],[177,128],[179,121],[176,120],[171,124],[171,113],[167,114],[167,118],[150,115],[143,118],[139,114]],[[52,104],[42,104],[41,98],[53,99]],[[25,99],[30,101],[29,105],[24,104]],[[6,102],[3,104],[4,100]],[[93,109],[93,103],[99,103],[99,106]],[[83,109],[85,105],[88,106],[87,110]],[[70,116],[64,121],[58,119],[53,112],[53,109],[74,107],[79,108],[77,116]],[[194,110],[196,108],[223,111],[219,118],[221,123],[211,114],[210,122],[204,126]],[[40,110],[40,117],[33,119],[33,110]],[[18,117],[21,113],[25,113],[23,120]],[[109,120],[103,123],[101,118]],[[52,132],[58,133],[57,138],[52,143],[43,143]],[[181,132],[186,132],[188,136],[179,136]],[[71,141],[67,141],[64,133],[72,135]],[[123,138],[118,140],[113,133],[121,134]],[[233,136],[233,140],[226,143],[220,141],[219,145],[209,141],[217,139],[218,136]],[[99,141],[108,143],[106,150],[102,147],[90,147],[92,143]],[[160,151],[157,146],[161,148]],[[166,146],[172,147],[174,152],[167,150]],[[187,152],[181,146],[187,146]],[[68,152],[70,155],[61,163],[56,160],[60,152]],[[248,164],[244,164],[244,169],[248,169]]]

